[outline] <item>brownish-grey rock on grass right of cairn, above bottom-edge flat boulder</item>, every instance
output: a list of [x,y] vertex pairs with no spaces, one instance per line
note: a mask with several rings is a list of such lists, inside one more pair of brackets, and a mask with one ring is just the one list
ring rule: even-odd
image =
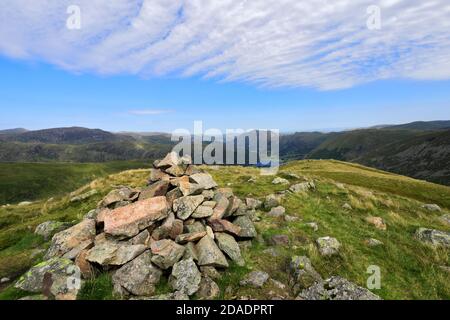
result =
[[289,279],[293,291],[307,289],[315,283],[321,283],[322,277],[314,269],[308,257],[294,256],[289,264]]

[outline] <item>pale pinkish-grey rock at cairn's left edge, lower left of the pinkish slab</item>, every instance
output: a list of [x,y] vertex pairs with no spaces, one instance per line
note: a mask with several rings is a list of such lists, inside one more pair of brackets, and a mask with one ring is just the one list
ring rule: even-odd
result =
[[77,253],[86,249],[94,241],[95,234],[95,220],[83,220],[53,236],[45,259],[62,257],[71,251],[73,251],[72,257],[75,258]]

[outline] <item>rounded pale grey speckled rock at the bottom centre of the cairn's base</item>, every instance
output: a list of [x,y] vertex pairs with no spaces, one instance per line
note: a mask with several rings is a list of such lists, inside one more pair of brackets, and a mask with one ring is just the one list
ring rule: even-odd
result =
[[169,283],[172,289],[191,296],[198,291],[201,279],[202,275],[191,258],[173,266]]

